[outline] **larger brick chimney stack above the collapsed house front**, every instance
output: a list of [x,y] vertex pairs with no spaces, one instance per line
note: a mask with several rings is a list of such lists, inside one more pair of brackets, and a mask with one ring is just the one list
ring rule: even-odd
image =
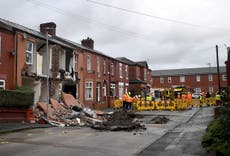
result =
[[56,36],[56,24],[54,22],[40,24],[40,32],[46,34],[48,32],[51,36]]

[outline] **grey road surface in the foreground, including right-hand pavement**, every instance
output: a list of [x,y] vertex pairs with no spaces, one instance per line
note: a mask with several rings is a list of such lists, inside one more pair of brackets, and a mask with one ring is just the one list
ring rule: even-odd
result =
[[[1,156],[131,156],[205,155],[200,140],[213,118],[213,107],[189,111],[141,112],[141,131],[98,131],[91,128],[43,128],[0,135]],[[167,115],[167,124],[151,124]]]

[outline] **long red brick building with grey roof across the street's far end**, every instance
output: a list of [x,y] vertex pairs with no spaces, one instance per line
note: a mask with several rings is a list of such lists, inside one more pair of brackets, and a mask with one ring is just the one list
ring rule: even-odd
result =
[[[227,86],[226,67],[220,69],[220,85]],[[185,68],[171,70],[153,70],[152,88],[173,88],[184,86],[193,92],[209,92],[212,95],[219,90],[216,67]]]

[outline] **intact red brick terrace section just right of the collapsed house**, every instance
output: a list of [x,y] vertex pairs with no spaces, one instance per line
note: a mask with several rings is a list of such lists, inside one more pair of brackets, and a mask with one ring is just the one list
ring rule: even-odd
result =
[[87,38],[77,53],[79,76],[78,98],[84,105],[103,109],[113,106],[129,87],[128,65],[94,49],[94,41]]

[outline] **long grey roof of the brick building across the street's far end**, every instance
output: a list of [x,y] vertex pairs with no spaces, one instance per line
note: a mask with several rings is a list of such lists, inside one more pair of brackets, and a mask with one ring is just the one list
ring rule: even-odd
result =
[[[220,73],[226,73],[226,68],[221,66]],[[179,75],[203,75],[203,74],[217,74],[217,67],[204,68],[184,68],[184,69],[170,69],[170,70],[152,70],[152,76],[179,76]]]

